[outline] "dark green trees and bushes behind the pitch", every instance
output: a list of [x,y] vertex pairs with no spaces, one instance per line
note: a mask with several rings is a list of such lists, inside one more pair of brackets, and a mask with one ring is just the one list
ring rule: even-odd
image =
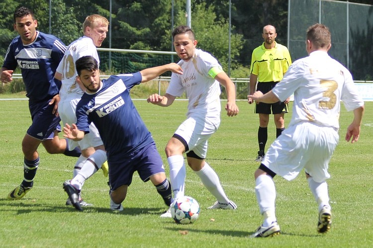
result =
[[[26,6],[34,11],[38,30],[59,37],[66,45],[82,36],[82,23],[88,15],[96,13],[107,19],[110,17],[109,0],[51,2],[49,15],[49,0],[0,0],[1,64],[10,41],[17,35],[13,30],[13,13],[19,6]],[[372,4],[371,0],[350,2]],[[111,48],[117,49],[172,51],[171,32],[173,27],[186,24],[185,9],[186,0],[111,0],[111,37],[106,38],[102,48],[109,48],[111,45]],[[263,42],[261,34],[264,25],[276,26],[277,42],[286,45],[287,9],[288,0],[231,0],[231,77],[249,77],[251,53]],[[229,1],[191,0],[191,27],[198,40],[197,47],[210,52],[227,71]],[[170,59],[167,56],[164,60],[177,62],[178,58]],[[137,67],[134,65],[128,68],[130,71],[123,71],[123,63],[125,62],[122,60],[114,62],[113,71],[133,72],[134,69],[144,68],[138,67],[147,67],[144,63],[139,63]],[[156,63],[158,64],[155,65],[160,65],[163,62]],[[103,70],[105,68],[108,69],[107,65],[101,67]]]

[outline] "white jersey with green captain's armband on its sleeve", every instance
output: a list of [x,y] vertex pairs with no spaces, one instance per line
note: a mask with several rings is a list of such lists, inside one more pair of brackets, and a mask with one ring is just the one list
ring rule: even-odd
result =
[[183,69],[183,75],[172,73],[166,93],[180,97],[185,91],[189,99],[187,117],[197,114],[220,123],[220,85],[208,72],[221,65],[199,49],[195,49],[189,61],[182,60],[178,64]]

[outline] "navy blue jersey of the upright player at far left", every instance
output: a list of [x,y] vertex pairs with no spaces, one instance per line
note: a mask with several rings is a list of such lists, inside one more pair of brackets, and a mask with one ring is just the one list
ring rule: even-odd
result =
[[61,84],[54,81],[57,66],[64,57],[66,46],[57,37],[36,31],[36,39],[23,45],[19,36],[10,43],[2,67],[21,69],[26,85],[26,96],[30,101],[52,99],[57,95]]

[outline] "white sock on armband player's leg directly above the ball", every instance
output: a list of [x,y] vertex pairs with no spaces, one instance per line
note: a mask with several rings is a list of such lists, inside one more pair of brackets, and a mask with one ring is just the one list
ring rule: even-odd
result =
[[167,158],[170,165],[170,182],[174,193],[174,200],[184,196],[185,178],[187,171],[184,166],[183,155],[174,155]]

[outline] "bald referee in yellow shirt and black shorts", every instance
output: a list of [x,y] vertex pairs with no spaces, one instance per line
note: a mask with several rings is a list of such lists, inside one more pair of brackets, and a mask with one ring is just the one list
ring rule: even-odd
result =
[[[291,58],[287,48],[275,41],[277,33],[274,26],[265,26],[263,28],[262,37],[264,39],[263,44],[254,49],[251,56],[250,95],[255,92],[256,86],[257,91],[261,91],[263,94],[272,90],[282,79],[283,74],[291,64]],[[262,162],[265,155],[270,114],[273,114],[275,117],[276,137],[279,137],[282,130],[285,129],[284,114],[288,113],[288,102],[289,98],[284,102],[277,102],[274,104],[257,103],[255,105],[255,113],[259,114],[259,151],[255,161]],[[248,97],[248,103],[252,104],[253,99]]]

